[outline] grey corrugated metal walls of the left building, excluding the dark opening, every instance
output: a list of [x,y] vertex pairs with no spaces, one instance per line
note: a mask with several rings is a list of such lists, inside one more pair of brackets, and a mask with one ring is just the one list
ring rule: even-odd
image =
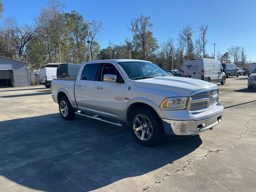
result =
[[14,87],[29,86],[28,64],[0,57],[1,64],[12,64]]

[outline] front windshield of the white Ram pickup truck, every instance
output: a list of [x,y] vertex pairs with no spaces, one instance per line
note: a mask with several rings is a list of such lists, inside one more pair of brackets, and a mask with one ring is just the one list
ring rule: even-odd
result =
[[118,64],[132,80],[154,78],[158,76],[170,76],[170,74],[162,68],[151,62],[129,61],[118,62]]

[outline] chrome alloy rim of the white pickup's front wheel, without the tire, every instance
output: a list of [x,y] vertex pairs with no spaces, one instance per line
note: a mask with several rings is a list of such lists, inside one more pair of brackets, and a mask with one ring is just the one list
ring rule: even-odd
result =
[[148,117],[138,114],[133,119],[133,131],[140,140],[146,141],[152,137],[153,126]]

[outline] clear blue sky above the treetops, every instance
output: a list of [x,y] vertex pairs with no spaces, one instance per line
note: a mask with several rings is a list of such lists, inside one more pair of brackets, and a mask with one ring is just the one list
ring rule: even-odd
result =
[[[14,16],[18,24],[32,24],[32,15],[48,0],[2,0],[4,17]],[[62,0],[65,12],[76,10],[85,20],[102,20],[104,30],[98,39],[101,48],[111,41],[123,44],[130,32],[126,24],[144,14],[151,16],[154,37],[158,43],[168,37],[176,39],[184,26],[192,27],[192,38],[198,37],[198,27],[207,24],[206,52],[227,52],[231,45],[244,46],[248,60],[256,61],[256,0]]]

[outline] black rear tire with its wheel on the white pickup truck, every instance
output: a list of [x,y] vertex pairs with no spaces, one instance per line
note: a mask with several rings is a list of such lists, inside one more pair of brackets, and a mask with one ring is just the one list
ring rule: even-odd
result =
[[[61,110],[64,108],[64,106],[66,106],[66,107],[65,107],[66,113],[64,112],[64,114],[62,114],[62,111],[61,111]],[[66,97],[60,98],[60,101],[59,101],[59,111],[60,111],[60,116],[61,116],[64,120],[72,120],[72,119],[74,119],[75,116],[76,116],[76,114],[75,114],[75,111],[76,111],[76,110],[74,110],[74,109],[72,108],[72,106],[71,106],[71,104],[70,104],[68,98],[66,98]]]

